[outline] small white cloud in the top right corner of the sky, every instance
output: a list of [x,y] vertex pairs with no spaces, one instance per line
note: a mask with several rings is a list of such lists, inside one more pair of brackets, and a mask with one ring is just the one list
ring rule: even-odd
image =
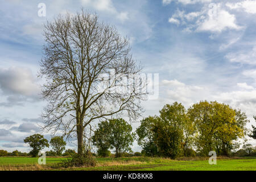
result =
[[226,3],[230,9],[244,10],[246,13],[256,13],[256,1],[246,0],[237,3]]

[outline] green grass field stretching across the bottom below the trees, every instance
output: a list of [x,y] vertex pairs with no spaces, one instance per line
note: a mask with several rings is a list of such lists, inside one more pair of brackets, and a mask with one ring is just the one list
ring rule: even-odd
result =
[[46,166],[39,166],[37,158],[0,158],[0,170],[141,170],[141,171],[256,171],[256,158],[218,159],[217,165],[210,165],[205,159],[171,160],[164,158],[97,158],[96,167],[86,168],[55,168],[65,158],[47,158]]

